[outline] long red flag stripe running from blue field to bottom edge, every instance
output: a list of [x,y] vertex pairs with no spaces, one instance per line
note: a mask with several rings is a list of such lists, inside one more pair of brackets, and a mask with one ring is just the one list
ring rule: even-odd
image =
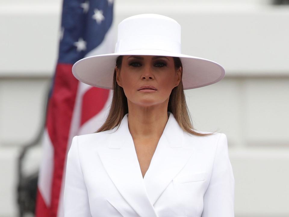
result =
[[[54,147],[54,166],[49,217],[57,216],[69,130],[78,86],[78,80],[73,76],[71,69],[72,64],[57,65],[53,92],[48,101],[46,127]],[[37,215],[37,217],[43,216],[45,216],[44,213],[39,213],[39,215]]]

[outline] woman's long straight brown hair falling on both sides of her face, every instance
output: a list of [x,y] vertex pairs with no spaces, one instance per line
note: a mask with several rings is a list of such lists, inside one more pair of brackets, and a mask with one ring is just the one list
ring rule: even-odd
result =
[[[181,78],[183,74],[183,66],[179,57],[173,57],[175,68],[179,69],[181,67]],[[116,66],[120,69],[123,61],[123,56],[117,57]],[[125,116],[126,113],[129,112],[127,105],[127,98],[124,94],[123,88],[117,84],[116,79],[116,70],[114,69],[113,74],[113,96],[112,103],[110,107],[110,111],[108,113],[107,119],[101,128],[96,132],[102,132],[106,130],[113,129],[116,126],[120,125],[121,120]],[[179,85],[172,89],[172,92],[169,96],[169,104],[168,104],[168,112],[171,112],[179,126],[183,129],[183,131],[199,136],[211,135],[213,133],[198,133],[193,128],[191,117],[189,116],[188,106],[186,103],[185,93],[183,89],[182,79],[179,82]]]

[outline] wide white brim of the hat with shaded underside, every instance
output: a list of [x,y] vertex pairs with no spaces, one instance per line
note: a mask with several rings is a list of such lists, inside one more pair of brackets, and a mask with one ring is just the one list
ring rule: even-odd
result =
[[121,55],[152,55],[179,57],[183,65],[184,90],[204,87],[220,81],[225,76],[224,68],[216,62],[200,57],[172,53],[163,50],[132,50],[113,54],[101,54],[78,60],[72,67],[73,75],[91,86],[113,89],[113,73],[116,59]]

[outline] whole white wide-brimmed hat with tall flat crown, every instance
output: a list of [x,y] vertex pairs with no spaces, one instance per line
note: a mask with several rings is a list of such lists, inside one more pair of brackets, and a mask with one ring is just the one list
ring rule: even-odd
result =
[[116,59],[121,55],[179,57],[184,89],[207,86],[225,76],[224,68],[218,63],[182,54],[181,26],[176,20],[159,14],[140,14],[124,19],[118,25],[115,52],[78,60],[72,73],[88,85],[113,89]]

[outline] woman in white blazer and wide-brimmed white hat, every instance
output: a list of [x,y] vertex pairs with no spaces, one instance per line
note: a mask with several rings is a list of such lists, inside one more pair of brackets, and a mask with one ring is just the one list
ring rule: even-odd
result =
[[97,133],[73,138],[65,216],[234,216],[226,135],[193,129],[183,91],[218,82],[225,71],[181,54],[180,38],[169,17],[129,17],[115,53],[73,66],[80,81],[113,89],[113,101]]

